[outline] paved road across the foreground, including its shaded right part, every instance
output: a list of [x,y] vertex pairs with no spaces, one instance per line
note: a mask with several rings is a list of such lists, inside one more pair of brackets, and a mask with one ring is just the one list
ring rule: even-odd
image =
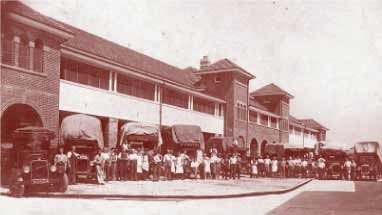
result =
[[[85,199],[15,199],[0,196],[1,214],[314,214],[325,209],[327,214],[349,214],[348,201],[355,214],[382,214],[382,183],[353,183],[349,181],[312,181],[281,195],[235,199],[187,201],[132,201]],[[123,211],[123,213],[120,213]],[[327,212],[328,210],[324,210]],[[343,213],[345,214],[345,213]]]

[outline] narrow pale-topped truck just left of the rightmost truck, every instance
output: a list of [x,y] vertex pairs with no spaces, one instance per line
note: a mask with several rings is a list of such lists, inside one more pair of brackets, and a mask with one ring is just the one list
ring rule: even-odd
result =
[[343,164],[347,157],[345,151],[338,146],[324,145],[320,147],[320,155],[326,160],[326,178],[337,179],[343,178]]

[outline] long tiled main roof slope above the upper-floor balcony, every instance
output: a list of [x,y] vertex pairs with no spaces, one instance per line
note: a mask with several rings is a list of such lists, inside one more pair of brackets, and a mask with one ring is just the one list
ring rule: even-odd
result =
[[159,76],[184,87],[194,89],[199,78],[191,70],[182,70],[130,48],[121,46],[71,25],[46,17],[19,1],[10,2],[12,11],[74,34],[74,38],[63,45],[90,53],[107,60],[131,67],[146,75]]

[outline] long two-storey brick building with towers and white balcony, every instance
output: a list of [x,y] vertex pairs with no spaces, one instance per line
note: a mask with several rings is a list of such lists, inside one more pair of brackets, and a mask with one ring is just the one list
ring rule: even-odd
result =
[[181,69],[18,1],[1,6],[2,145],[18,127],[58,133],[74,113],[101,119],[107,146],[116,145],[129,121],[199,125],[205,138],[234,137],[251,154],[269,143],[325,140],[324,126],[290,116],[292,95],[274,84],[249,92],[253,71],[228,59],[203,57],[200,68]]

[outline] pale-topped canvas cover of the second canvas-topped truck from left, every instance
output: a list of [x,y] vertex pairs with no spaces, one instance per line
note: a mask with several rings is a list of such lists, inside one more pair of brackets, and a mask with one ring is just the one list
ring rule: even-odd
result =
[[120,145],[125,139],[136,142],[157,141],[158,145],[163,143],[159,127],[153,124],[128,122],[121,127],[120,132]]

